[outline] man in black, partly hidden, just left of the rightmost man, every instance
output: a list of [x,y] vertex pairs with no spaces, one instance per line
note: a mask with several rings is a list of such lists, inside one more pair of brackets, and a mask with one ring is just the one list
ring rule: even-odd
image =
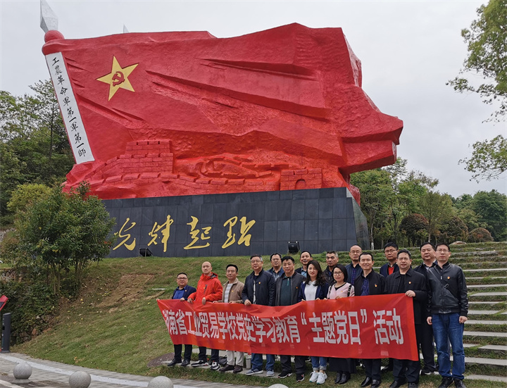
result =
[[[421,258],[423,263],[414,268],[415,272],[424,275],[427,279],[427,271],[432,268],[435,261],[435,249],[431,242],[425,242],[420,246]],[[437,369],[434,362],[434,346],[433,346],[433,327],[428,325],[427,321],[421,324],[421,336],[418,339],[418,348],[423,353],[424,368],[421,375],[432,375]]]

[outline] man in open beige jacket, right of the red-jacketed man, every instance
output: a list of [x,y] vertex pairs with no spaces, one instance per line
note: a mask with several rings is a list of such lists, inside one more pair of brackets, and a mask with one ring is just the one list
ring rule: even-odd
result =
[[[244,288],[244,283],[239,282],[237,279],[238,268],[235,264],[229,264],[225,268],[225,276],[227,277],[227,282],[222,284],[223,292],[222,292],[222,303],[243,303],[242,292]],[[215,303],[215,302],[213,302]],[[244,353],[242,351],[225,351],[227,356],[227,365],[223,368],[220,368],[219,372],[227,372],[232,370],[232,373],[240,373],[243,370],[243,358]],[[236,364],[234,364],[234,356],[236,358]],[[235,366],[234,366],[235,365]]]

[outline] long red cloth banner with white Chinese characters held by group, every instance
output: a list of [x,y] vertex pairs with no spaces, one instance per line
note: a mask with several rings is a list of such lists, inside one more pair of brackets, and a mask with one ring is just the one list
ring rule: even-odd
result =
[[246,353],[417,361],[412,299],[404,294],[293,306],[158,300],[173,344]]

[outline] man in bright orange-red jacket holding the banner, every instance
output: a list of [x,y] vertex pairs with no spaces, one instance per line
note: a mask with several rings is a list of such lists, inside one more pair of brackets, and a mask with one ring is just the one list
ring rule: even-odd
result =
[[[197,291],[190,294],[187,301],[189,303],[202,303],[203,306],[206,302],[220,301],[222,299],[222,283],[218,280],[218,275],[213,273],[213,268],[209,261],[205,261],[201,265],[202,275],[197,282]],[[211,349],[211,370],[220,369],[218,364],[218,349]],[[206,346],[199,346],[199,361],[190,364],[193,367],[208,366],[208,358],[206,357]]]

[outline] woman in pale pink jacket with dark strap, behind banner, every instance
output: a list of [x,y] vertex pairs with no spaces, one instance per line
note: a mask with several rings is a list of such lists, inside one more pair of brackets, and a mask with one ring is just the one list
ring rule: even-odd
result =
[[[354,296],[355,290],[352,284],[346,282],[346,267],[337,264],[333,269],[334,284],[331,284],[327,292],[327,299],[340,299]],[[334,384],[345,384],[350,380],[351,374],[356,373],[356,361],[352,358],[330,358],[330,370],[337,372]]]

